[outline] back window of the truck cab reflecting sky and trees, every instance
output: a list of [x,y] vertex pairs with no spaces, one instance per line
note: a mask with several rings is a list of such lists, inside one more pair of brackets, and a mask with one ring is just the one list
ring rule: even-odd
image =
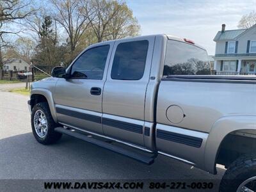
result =
[[168,40],[163,76],[210,75],[207,52],[195,45]]

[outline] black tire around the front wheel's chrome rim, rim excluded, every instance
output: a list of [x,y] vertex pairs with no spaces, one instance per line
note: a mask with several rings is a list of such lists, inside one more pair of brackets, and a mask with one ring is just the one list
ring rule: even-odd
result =
[[[38,134],[35,131],[34,116],[38,109],[43,111],[45,118],[47,120],[47,134],[45,135],[44,138],[40,138],[40,136],[38,136]],[[54,128],[58,127],[58,124],[56,124],[52,119],[51,111],[49,109],[47,102],[39,102],[35,104],[35,106],[33,107],[31,111],[31,127],[32,127],[33,135],[36,138],[36,141],[44,145],[56,143],[56,141],[60,140],[62,135],[60,132],[54,131]]]

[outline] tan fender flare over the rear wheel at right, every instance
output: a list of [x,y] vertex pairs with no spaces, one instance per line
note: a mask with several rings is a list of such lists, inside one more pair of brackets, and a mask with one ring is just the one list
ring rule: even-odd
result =
[[205,170],[216,174],[218,152],[225,138],[234,131],[256,131],[255,115],[223,116],[212,126],[205,146]]

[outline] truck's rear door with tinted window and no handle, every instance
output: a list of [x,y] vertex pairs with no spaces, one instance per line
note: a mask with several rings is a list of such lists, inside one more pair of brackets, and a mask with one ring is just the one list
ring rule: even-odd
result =
[[104,134],[144,145],[144,106],[154,36],[115,43],[104,85],[102,127]]

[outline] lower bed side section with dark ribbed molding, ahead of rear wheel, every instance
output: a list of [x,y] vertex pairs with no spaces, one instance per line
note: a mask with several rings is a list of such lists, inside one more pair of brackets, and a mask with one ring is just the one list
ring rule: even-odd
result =
[[[205,144],[208,133],[174,127],[171,125],[156,125],[156,148],[180,161],[193,164],[204,169]],[[193,154],[193,155],[192,155]]]

